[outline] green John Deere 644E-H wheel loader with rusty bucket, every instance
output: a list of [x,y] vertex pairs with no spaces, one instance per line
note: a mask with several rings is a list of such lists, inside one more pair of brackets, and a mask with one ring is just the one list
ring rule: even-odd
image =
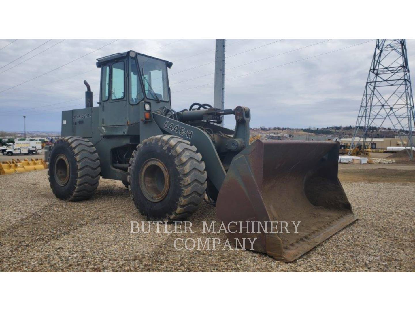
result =
[[[96,65],[98,106],[84,81],[85,108],[63,111],[62,138],[46,146],[59,199],[89,199],[100,177],[121,180],[142,215],[168,222],[186,219],[206,199],[230,242],[253,238],[254,250],[286,262],[356,220],[337,178],[337,142],[250,144],[247,107],[172,108],[171,62],[127,51]],[[234,115],[234,130],[218,125],[224,115]],[[270,232],[278,222],[289,233]]]

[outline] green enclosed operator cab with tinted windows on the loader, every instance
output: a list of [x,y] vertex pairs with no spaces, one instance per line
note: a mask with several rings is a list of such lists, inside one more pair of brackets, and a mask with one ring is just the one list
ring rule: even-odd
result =
[[151,111],[171,108],[167,68],[172,65],[135,51],[98,58],[97,67],[101,68],[98,125],[130,127],[141,122],[144,107]]

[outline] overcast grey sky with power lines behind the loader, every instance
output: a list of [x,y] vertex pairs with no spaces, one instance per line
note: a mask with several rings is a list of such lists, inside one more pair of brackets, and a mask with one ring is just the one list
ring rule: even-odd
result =
[[[98,95],[100,69],[96,58],[128,50],[173,62],[169,69],[173,109],[188,108],[193,102],[213,104],[214,39],[19,39],[10,44],[13,40],[0,39],[3,131],[23,131],[23,115],[27,116],[27,131],[60,131],[61,111],[85,105],[83,80]],[[375,47],[375,41],[363,43],[368,40],[227,39],[225,108],[249,107],[251,127],[354,125]],[[292,51],[295,49],[299,50]],[[413,69],[415,40],[407,40],[407,49]],[[322,53],[327,54],[317,56]],[[195,66],[200,67],[186,70]],[[414,80],[413,74],[411,78]],[[19,86],[7,90],[15,85]],[[233,128],[234,119],[227,117],[225,126]]]

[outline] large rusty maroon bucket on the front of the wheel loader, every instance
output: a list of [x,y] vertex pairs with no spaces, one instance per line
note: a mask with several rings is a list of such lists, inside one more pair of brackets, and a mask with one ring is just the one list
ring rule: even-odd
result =
[[245,248],[291,262],[355,221],[337,178],[338,158],[333,141],[257,140],[245,148],[217,198],[229,242],[256,238]]

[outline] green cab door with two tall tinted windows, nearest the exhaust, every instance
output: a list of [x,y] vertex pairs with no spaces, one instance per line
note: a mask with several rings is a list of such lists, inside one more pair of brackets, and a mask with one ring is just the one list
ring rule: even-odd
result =
[[102,126],[127,124],[126,61],[115,61],[101,70]]

